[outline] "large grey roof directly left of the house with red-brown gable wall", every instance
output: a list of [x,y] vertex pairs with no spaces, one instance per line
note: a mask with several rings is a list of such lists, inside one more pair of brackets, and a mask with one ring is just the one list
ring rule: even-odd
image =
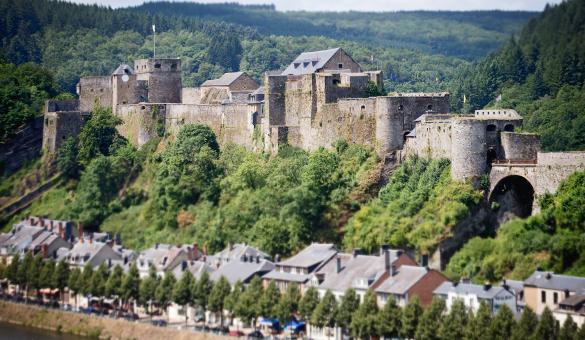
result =
[[[396,261],[399,253],[390,250],[390,263]],[[337,273],[337,258],[341,260],[341,271]],[[384,256],[337,254],[317,271],[324,274],[319,288],[345,292],[348,288],[363,288],[356,285],[356,280],[367,279],[369,288],[386,272]]]

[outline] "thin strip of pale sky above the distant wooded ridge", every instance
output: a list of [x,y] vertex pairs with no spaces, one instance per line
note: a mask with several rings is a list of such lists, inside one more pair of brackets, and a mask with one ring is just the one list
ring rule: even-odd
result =
[[[139,5],[144,0],[69,0],[77,3],[98,3],[111,7]],[[202,3],[239,2],[242,4],[276,5],[281,11],[400,11],[400,10],[527,10],[541,11],[546,3],[562,0],[200,0]]]

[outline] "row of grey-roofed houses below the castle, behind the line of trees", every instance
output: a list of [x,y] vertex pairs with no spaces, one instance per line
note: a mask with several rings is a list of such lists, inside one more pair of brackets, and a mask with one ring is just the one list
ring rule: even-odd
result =
[[[68,221],[30,217],[14,225],[10,233],[0,234],[1,256],[28,251],[55,260],[65,259],[78,268],[107,263],[127,270],[135,262],[142,278],[149,274],[151,267],[161,277],[173,273],[180,279],[190,271],[198,278],[207,272],[213,281],[223,276],[232,285],[237,281],[248,284],[254,276],[260,276],[265,286],[274,281],[281,291],[295,283],[301,293],[315,287],[320,296],[329,290],[338,299],[349,288],[360,298],[371,289],[380,307],[390,297],[399,306],[406,305],[414,296],[423,306],[430,304],[433,297],[439,297],[445,300],[447,308],[456,299],[463,300],[474,311],[485,301],[493,313],[502,305],[518,315],[525,307],[537,314],[548,307],[560,322],[568,315],[578,325],[585,322],[585,278],[537,270],[525,281],[508,280],[499,285],[478,285],[465,280],[449,282],[442,273],[428,268],[424,257],[419,264],[407,252],[386,246],[376,254],[367,255],[358,249],[344,253],[333,244],[313,243],[284,260],[278,255],[273,259],[247,244],[228,245],[212,255],[197,244],[156,244],[137,253],[125,249],[119,237],[85,233]],[[169,317],[184,319],[188,313],[195,312],[171,306]]]

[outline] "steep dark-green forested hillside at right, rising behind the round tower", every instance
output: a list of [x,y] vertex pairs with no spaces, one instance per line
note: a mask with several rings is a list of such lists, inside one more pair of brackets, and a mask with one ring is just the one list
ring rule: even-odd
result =
[[547,7],[517,38],[454,80],[455,108],[515,108],[524,114],[524,129],[542,135],[543,149],[585,150],[584,22],[583,1]]

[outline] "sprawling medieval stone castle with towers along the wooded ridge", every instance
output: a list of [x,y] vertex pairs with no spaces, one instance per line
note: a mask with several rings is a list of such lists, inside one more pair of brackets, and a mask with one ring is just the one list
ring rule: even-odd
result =
[[448,93],[368,97],[382,81],[381,71],[363,71],[341,48],[301,53],[284,71],[266,72],[263,86],[234,72],[183,88],[180,59],[137,60],[110,76],[81,78],[79,100],[48,101],[43,148],[55,152],[99,105],[122,119],[120,133],[136,146],[193,123],[210,126],[220,144],[257,151],[315,150],[344,139],[382,159],[448,158],[454,179],[489,175],[490,196],[520,185],[514,176],[528,182],[522,190],[531,197],[554,192],[585,168],[585,153],[542,153],[537,135],[515,132],[522,118],[513,110],[452,114]]

